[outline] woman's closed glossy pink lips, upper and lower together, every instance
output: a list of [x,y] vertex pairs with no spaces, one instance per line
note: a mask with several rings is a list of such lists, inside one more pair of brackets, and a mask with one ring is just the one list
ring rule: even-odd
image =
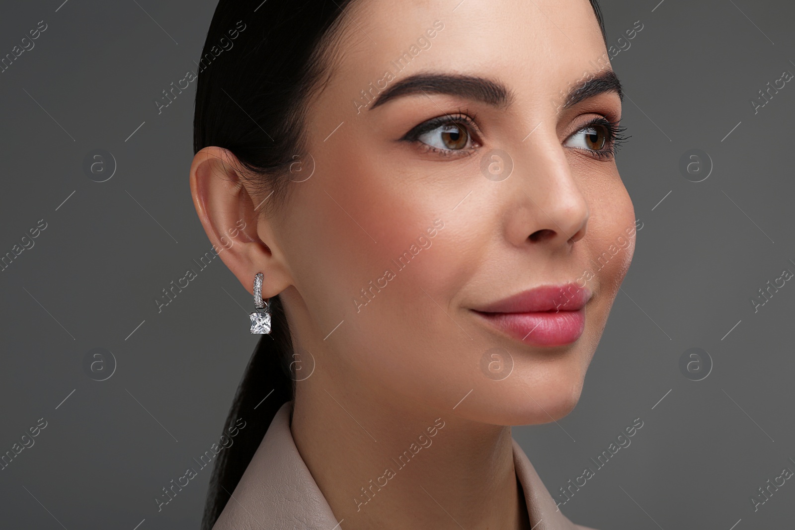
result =
[[545,285],[475,309],[475,313],[514,339],[537,346],[562,346],[585,329],[591,290],[576,284]]

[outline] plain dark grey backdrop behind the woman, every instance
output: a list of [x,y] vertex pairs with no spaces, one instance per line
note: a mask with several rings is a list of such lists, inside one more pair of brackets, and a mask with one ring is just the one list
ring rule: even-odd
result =
[[[215,2],[62,1],[0,10],[0,56],[48,25],[0,73],[0,254],[47,222],[0,272],[0,453],[48,422],[0,471],[0,527],[197,528],[209,467],[159,513],[153,498],[218,441],[258,336],[220,260],[153,303],[210,249],[188,189],[195,83],[162,114],[153,99],[194,69]],[[643,420],[562,505],[580,524],[789,528],[792,481],[756,512],[750,496],[795,470],[795,287],[755,314],[750,298],[795,271],[795,83],[758,114],[749,101],[795,73],[795,9],[658,2],[602,2],[611,44],[644,25],[612,60],[633,136],[619,170],[643,222],[633,265],[580,404],[514,437],[554,496]],[[83,172],[92,149],[113,153],[111,180]],[[679,171],[688,149],[712,158],[707,180]],[[118,362],[107,381],[83,370],[95,347]],[[714,364],[702,381],[679,368],[691,347]]]

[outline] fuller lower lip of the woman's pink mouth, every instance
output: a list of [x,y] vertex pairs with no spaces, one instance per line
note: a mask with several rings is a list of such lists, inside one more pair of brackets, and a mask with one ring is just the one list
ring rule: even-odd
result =
[[475,312],[514,339],[537,346],[571,344],[583,335],[585,329],[585,308],[532,313]]

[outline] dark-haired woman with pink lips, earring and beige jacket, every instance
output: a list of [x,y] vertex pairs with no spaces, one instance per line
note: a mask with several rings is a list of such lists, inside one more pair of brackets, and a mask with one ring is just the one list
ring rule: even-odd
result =
[[205,529],[586,528],[510,426],[574,408],[630,265],[621,99],[595,0],[219,2],[191,191],[267,335]]

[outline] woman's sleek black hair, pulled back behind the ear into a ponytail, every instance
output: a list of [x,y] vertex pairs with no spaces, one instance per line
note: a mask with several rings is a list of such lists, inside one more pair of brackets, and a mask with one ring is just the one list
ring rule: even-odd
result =
[[[284,199],[290,167],[305,154],[304,113],[333,56],[335,28],[352,0],[220,0],[196,75],[193,149],[215,145],[235,155],[270,215]],[[302,158],[303,159],[303,158]],[[297,179],[298,180],[298,179]],[[293,345],[279,296],[271,333],[262,335],[242,375],[223,432],[246,428],[215,460],[202,530],[211,530],[262,443],[273,416],[293,399]]]

